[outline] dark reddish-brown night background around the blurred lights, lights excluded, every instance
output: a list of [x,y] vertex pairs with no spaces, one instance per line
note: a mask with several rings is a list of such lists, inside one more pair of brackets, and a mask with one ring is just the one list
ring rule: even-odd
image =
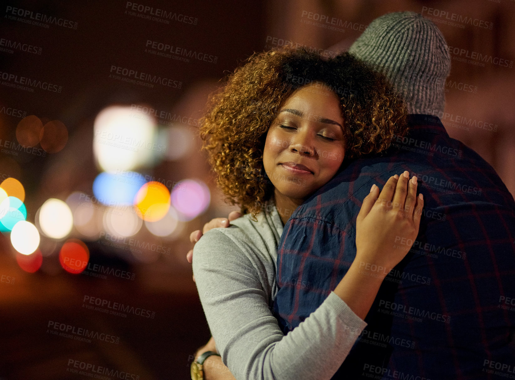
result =
[[[170,132],[179,128],[188,149],[180,156],[158,157],[133,170],[170,183],[186,178],[201,180],[211,192],[211,203],[191,221],[180,221],[173,236],[154,236],[145,224],[135,234],[139,241],[165,247],[166,253],[144,249],[143,253],[133,254],[125,243],[112,247],[105,244],[105,239],[102,242],[98,234],[96,238],[88,237],[75,227],[63,239],[42,235],[39,251],[43,261],[35,273],[20,267],[16,259],[20,254],[11,245],[9,233],[2,234],[0,378],[87,377],[67,371],[71,368],[70,359],[139,375],[140,379],[190,378],[188,355],[207,342],[210,333],[192,281],[191,264],[185,259],[192,247],[189,233],[237,208],[223,202],[205,155],[200,153],[196,126],[187,120],[202,116],[207,96],[217,82],[252,52],[277,46],[281,41],[341,51],[376,17],[390,11],[412,10],[434,19],[450,46],[511,61],[511,67],[490,62],[477,65],[460,62],[452,55],[442,122],[451,137],[482,155],[515,194],[515,1],[137,3],[192,17],[197,19],[196,25],[175,20],[165,24],[136,17],[126,13],[130,10],[127,4],[24,1],[0,5],[0,41],[41,48],[41,54],[37,54],[0,43],[4,48],[0,51],[0,71],[62,86],[60,93],[40,88],[28,92],[9,87],[9,81],[0,77],[0,139],[4,147],[0,153],[0,182],[13,177],[23,184],[27,221],[31,223],[36,223],[38,209],[48,198],[65,201],[73,192],[93,195],[93,181],[102,171],[92,148],[94,120],[108,106],[138,104],[179,115],[180,119],[158,125],[160,141],[164,141],[168,153],[179,151],[182,142]],[[45,28],[11,20],[8,7],[70,20],[77,23],[77,28],[52,23]],[[449,25],[445,16],[435,15],[434,9],[483,20],[492,23],[492,28]],[[313,17],[335,17],[339,30],[308,24],[306,21],[313,21],[309,12]],[[151,55],[145,52],[147,41],[207,53],[217,57],[216,63],[195,59],[183,62]],[[113,65],[181,81],[182,86],[148,88],[115,80],[109,77]],[[7,110],[13,108],[23,116],[10,115]],[[37,116],[43,125],[60,120],[68,136],[64,148],[44,157],[5,148],[5,141],[18,144],[16,129],[23,117],[29,115]],[[134,273],[134,280],[67,273],[59,262],[59,251],[69,238],[85,242],[90,263]],[[87,310],[82,307],[84,296],[150,310],[155,312],[155,318],[132,314],[124,318]],[[107,333],[119,337],[119,342],[92,339],[88,343],[53,335],[47,331],[50,321]]]

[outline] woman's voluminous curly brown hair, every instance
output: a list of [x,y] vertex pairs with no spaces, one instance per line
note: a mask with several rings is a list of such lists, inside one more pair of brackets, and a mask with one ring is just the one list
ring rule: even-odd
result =
[[217,185],[243,213],[255,218],[273,195],[263,169],[266,133],[281,104],[309,83],[329,86],[340,99],[346,159],[382,152],[407,132],[402,98],[349,53],[330,59],[305,48],[254,53],[210,96],[200,124]]

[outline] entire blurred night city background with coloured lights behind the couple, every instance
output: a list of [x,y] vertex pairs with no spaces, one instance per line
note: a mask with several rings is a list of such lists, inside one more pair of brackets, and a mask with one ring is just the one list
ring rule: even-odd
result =
[[208,95],[254,51],[333,56],[399,10],[445,35],[442,122],[515,194],[515,1],[4,3],[0,378],[190,378],[188,237],[237,210],[200,152]]

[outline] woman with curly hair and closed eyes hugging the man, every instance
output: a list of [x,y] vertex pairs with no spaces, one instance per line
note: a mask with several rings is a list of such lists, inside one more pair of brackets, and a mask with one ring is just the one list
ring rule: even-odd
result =
[[383,280],[367,268],[392,268],[410,248],[396,249],[394,239],[417,236],[423,201],[416,178],[408,181],[405,172],[381,192],[370,189],[357,216],[351,268],[286,336],[270,311],[277,244],[291,212],[329,182],[344,157],[381,152],[405,129],[402,100],[350,55],[260,53],[212,97],[203,149],[218,186],[245,215],[204,234],[193,272],[216,348],[235,378],[329,379],[340,367]]

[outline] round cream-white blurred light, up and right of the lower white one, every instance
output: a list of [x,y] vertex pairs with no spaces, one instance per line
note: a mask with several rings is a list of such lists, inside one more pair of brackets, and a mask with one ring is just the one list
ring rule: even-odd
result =
[[49,238],[62,239],[72,230],[72,210],[63,201],[50,198],[39,209],[39,226]]

